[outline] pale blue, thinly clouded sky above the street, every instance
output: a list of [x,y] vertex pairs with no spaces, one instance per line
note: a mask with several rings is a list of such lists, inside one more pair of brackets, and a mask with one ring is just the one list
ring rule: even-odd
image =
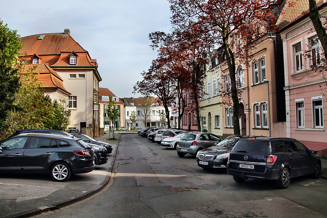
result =
[[0,0],[0,19],[21,37],[71,31],[102,78],[99,86],[119,98],[141,96],[133,86],[142,80],[157,52],[149,33],[171,29],[168,0],[21,1]]

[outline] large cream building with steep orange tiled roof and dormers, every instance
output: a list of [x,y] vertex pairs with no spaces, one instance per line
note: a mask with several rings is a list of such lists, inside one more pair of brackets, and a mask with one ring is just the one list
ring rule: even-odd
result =
[[68,29],[21,37],[19,51],[27,68],[35,66],[45,94],[65,100],[71,117],[68,129],[90,127],[99,136],[99,82],[102,80],[96,59],[76,42]]

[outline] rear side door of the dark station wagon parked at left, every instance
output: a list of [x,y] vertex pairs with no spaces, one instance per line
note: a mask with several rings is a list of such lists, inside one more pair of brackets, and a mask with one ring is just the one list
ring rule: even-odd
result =
[[57,155],[57,140],[46,137],[32,137],[22,157],[22,171],[40,172]]

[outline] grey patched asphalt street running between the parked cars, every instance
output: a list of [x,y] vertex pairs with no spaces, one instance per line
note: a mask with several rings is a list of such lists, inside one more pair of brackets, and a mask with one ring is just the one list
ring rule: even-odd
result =
[[108,185],[78,203],[35,217],[325,217],[327,181],[300,177],[287,189],[274,182],[233,181],[195,158],[137,134],[123,134]]

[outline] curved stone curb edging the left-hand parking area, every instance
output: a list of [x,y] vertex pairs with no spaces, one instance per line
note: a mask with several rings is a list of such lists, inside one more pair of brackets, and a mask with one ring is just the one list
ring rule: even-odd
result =
[[[111,161],[111,168],[108,168],[108,172],[112,172],[113,163],[114,163],[114,161],[116,159],[116,154],[117,154],[117,151],[118,151],[120,141],[121,141],[121,135],[119,136],[119,139],[118,139],[117,148],[114,151],[114,153],[112,153],[114,158]],[[109,171],[109,169],[110,169],[110,171]],[[74,204],[76,202],[79,202],[79,201],[82,201],[82,200],[84,200],[86,198],[89,198],[89,197],[95,195],[96,193],[98,193],[99,191],[101,191],[104,188],[104,186],[106,186],[109,183],[109,180],[110,180],[110,174],[109,174],[109,176],[106,176],[105,180],[102,183],[99,184],[100,187],[89,190],[89,191],[83,193],[83,195],[81,195],[81,196],[78,196],[78,197],[73,198],[73,199],[67,199],[67,200],[63,200],[63,201],[60,201],[60,202],[55,202],[53,205],[44,205],[44,206],[41,206],[41,207],[38,207],[38,208],[35,208],[35,209],[31,209],[31,210],[27,210],[27,211],[23,211],[23,212],[19,212],[19,213],[14,213],[14,214],[11,214],[9,216],[4,216],[3,218],[34,216],[34,215],[41,214],[43,212],[47,212],[47,211],[50,211],[50,210],[56,210],[56,209],[59,209],[59,208],[64,207],[64,206]]]

